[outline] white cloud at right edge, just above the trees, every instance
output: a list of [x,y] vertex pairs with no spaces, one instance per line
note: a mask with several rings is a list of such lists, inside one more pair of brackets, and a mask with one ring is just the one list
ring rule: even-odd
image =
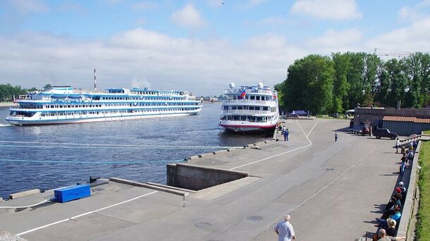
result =
[[413,22],[408,27],[379,34],[367,41],[369,48],[386,48],[396,51],[429,51],[430,17]]

